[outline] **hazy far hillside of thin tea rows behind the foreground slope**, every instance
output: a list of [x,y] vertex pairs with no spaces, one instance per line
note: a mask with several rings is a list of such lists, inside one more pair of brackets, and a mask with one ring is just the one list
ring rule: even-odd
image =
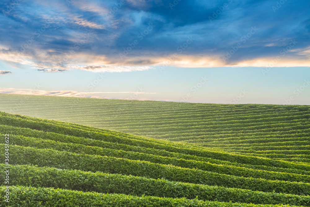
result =
[[[305,150],[310,126],[310,106],[299,105],[199,104],[0,94],[0,110],[201,146],[241,147],[243,152],[270,150],[271,154],[275,150],[287,150],[285,146],[301,145]],[[253,142],[256,145],[250,147],[248,144]],[[268,148],[269,142],[282,142],[284,146]]]

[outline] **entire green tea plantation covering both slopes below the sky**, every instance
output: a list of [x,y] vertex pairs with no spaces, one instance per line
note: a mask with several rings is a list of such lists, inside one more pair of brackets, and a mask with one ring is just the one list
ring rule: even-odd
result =
[[309,108],[0,94],[0,206],[310,206]]

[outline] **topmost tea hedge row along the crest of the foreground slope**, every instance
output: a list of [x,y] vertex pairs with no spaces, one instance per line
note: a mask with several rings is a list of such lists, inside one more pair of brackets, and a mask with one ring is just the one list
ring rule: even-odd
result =
[[[143,147],[149,147],[149,148],[154,147],[155,149],[162,149],[162,150],[166,150],[170,152],[178,152],[178,153],[188,154],[188,155],[197,155],[201,157],[209,157],[213,159],[225,160],[225,161],[230,161],[230,162],[238,162],[242,164],[268,165],[268,166],[273,166],[273,167],[302,169],[302,170],[310,171],[310,165],[306,163],[305,164],[294,164],[294,163],[290,163],[286,161],[271,160],[267,158],[237,155],[237,154],[232,154],[232,153],[222,153],[222,152],[216,152],[216,151],[207,151],[207,150],[202,150],[202,148],[198,150],[199,148],[197,147],[190,148],[190,146],[186,146],[188,148],[184,148],[184,147],[179,147],[179,146],[182,146],[181,144],[179,144],[179,146],[173,146],[172,142],[171,143],[164,142],[165,144],[148,142],[144,140],[136,140],[136,139],[131,139],[131,138],[112,136],[108,133],[96,133],[96,132],[69,128],[69,127],[62,127],[62,126],[53,125],[53,124],[46,124],[43,121],[34,122],[34,121],[29,121],[29,120],[23,120],[20,118],[16,119],[16,118],[10,118],[10,117],[5,117],[5,116],[0,115],[0,124],[8,124],[11,126],[19,126],[19,127],[37,129],[41,131],[62,133],[62,134],[78,136],[78,137],[82,136],[86,138],[92,138],[92,139],[116,142],[116,143],[122,143],[122,144],[129,144],[129,145],[135,145],[135,146],[143,146]],[[145,139],[147,140],[147,138]]]

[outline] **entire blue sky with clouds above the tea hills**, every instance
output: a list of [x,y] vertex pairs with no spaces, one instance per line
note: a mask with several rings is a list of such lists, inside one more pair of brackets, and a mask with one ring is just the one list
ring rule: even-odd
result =
[[306,0],[2,0],[0,93],[310,105]]

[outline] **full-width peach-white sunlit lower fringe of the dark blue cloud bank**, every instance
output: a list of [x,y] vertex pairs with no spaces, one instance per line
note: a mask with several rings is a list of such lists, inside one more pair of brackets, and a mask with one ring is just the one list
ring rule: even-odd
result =
[[[310,49],[294,49],[281,56],[276,67],[309,67]],[[87,70],[91,72],[130,72],[153,69],[153,66],[166,67],[266,67],[276,58],[259,57],[252,59],[241,59],[238,61],[228,60],[225,62],[220,55],[185,55],[179,54],[175,58],[160,56],[160,54],[145,53],[144,56],[126,56],[121,59],[117,54],[104,56],[92,54],[85,51],[74,51],[73,54],[61,54],[53,50],[34,48],[32,52],[12,52],[6,46],[0,45],[0,59],[15,68],[23,68],[24,65],[45,72],[61,72],[65,70]]]

